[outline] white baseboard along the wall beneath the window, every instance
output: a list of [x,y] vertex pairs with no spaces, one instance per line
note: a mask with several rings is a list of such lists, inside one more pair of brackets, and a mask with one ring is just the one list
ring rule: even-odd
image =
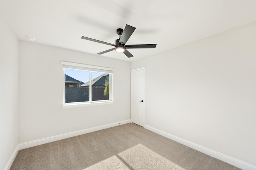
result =
[[69,138],[69,137],[82,135],[82,134],[85,134],[85,133],[90,133],[90,132],[99,131],[99,130],[102,130],[102,129],[107,129],[107,128],[110,128],[110,127],[118,126],[120,124],[130,123],[130,122],[131,122],[131,119],[128,119],[128,120],[124,120],[124,121],[118,121],[118,122],[115,122],[115,123],[110,123],[110,124],[106,124],[106,125],[101,125],[101,126],[97,126],[97,127],[83,129],[83,130],[80,130],[80,131],[74,131],[74,132],[70,132],[70,133],[64,133],[64,134],[61,134],[61,135],[56,135],[56,136],[52,136],[52,137],[46,137],[46,138],[43,138],[43,139],[38,139],[38,140],[34,140],[34,141],[20,143],[19,144],[19,150],[34,147],[34,146],[37,146],[37,145],[42,145],[42,144],[49,143],[49,142],[58,141],[58,140],[61,140],[61,139],[66,139],[66,138]]

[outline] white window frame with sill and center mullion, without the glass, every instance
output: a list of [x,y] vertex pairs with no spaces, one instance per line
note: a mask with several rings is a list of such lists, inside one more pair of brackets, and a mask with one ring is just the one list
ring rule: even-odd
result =
[[[62,108],[68,107],[82,107],[82,106],[95,106],[95,105],[102,105],[102,104],[113,104],[113,72],[114,68],[102,67],[102,66],[93,66],[87,64],[80,64],[80,63],[70,63],[67,61],[61,61],[63,65],[63,94],[62,94]],[[75,69],[75,70],[85,70],[90,72],[90,95],[88,102],[72,102],[72,103],[65,103],[65,68]],[[97,100],[92,101],[92,72],[105,72],[110,73],[110,88],[109,88],[109,100]]]

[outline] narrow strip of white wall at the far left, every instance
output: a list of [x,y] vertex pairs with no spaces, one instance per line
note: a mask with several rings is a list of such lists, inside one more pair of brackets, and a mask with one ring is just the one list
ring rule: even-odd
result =
[[18,144],[18,39],[0,15],[0,169]]

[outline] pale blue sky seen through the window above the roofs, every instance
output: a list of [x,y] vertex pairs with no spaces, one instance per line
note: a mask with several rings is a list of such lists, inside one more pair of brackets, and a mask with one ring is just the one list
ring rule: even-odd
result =
[[[65,74],[67,74],[68,76],[82,81],[84,83],[89,81],[89,76],[90,76],[90,72],[89,71],[84,71],[84,70],[74,70],[74,69],[68,69],[65,68]],[[92,72],[92,79],[105,74],[104,72]]]

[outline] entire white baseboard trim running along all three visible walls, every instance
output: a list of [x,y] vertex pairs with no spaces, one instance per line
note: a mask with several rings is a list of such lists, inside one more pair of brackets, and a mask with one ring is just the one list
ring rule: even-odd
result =
[[[21,150],[21,149],[34,147],[34,146],[37,146],[37,145],[42,145],[42,144],[45,144],[45,143],[54,142],[54,141],[58,141],[58,140],[61,140],[61,139],[74,137],[74,136],[77,136],[77,135],[82,135],[82,134],[85,134],[85,133],[99,131],[99,130],[102,130],[102,129],[107,129],[107,128],[110,128],[110,127],[118,126],[120,124],[130,123],[130,122],[131,122],[131,120],[128,119],[128,120],[124,120],[124,121],[119,121],[119,122],[115,122],[115,123],[110,123],[110,124],[106,124],[106,125],[101,125],[101,126],[97,126],[97,127],[83,129],[83,130],[80,130],[80,131],[74,131],[74,132],[65,133],[65,134],[62,134],[62,135],[56,135],[56,136],[52,136],[52,137],[47,137],[47,138],[43,138],[43,139],[38,139],[38,140],[26,142],[26,143],[20,143],[16,146],[16,148],[15,148],[14,152],[12,153],[12,156],[10,157],[10,159],[9,159],[8,163],[6,164],[6,167],[4,168],[4,170],[9,170],[10,169],[18,151]],[[176,141],[178,143],[186,145],[187,147],[198,150],[198,151],[203,152],[205,154],[208,154],[208,155],[210,155],[214,158],[217,158],[219,160],[222,160],[224,162],[232,164],[232,165],[234,165],[238,168],[241,168],[243,170],[256,170],[256,166],[254,166],[252,164],[249,164],[247,162],[244,162],[242,160],[238,160],[236,158],[232,158],[231,156],[222,154],[222,153],[217,152],[215,150],[203,147],[201,145],[197,145],[196,143],[192,143],[190,141],[187,141],[187,140],[182,139],[180,137],[176,137],[174,135],[171,135],[169,133],[166,133],[164,131],[161,131],[159,129],[156,129],[156,128],[148,126],[148,125],[144,125],[144,128],[148,129],[148,130],[150,130],[154,133],[157,133],[159,135],[162,135],[164,137],[167,137],[169,139],[172,139],[173,141]]]

